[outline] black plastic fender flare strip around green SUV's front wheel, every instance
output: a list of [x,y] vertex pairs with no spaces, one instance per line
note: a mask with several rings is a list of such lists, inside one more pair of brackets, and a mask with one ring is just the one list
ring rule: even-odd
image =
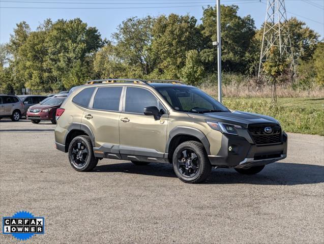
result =
[[206,135],[203,134],[203,132],[200,131],[199,129],[196,129],[193,127],[188,127],[188,126],[176,126],[170,131],[169,138],[166,142],[166,148],[165,148],[166,153],[169,152],[169,145],[170,145],[171,140],[175,136],[179,136],[179,135],[194,136],[194,137],[198,138],[201,141],[201,143],[203,144],[207,154],[208,155],[211,154],[211,150],[210,150],[211,145],[210,145]]

